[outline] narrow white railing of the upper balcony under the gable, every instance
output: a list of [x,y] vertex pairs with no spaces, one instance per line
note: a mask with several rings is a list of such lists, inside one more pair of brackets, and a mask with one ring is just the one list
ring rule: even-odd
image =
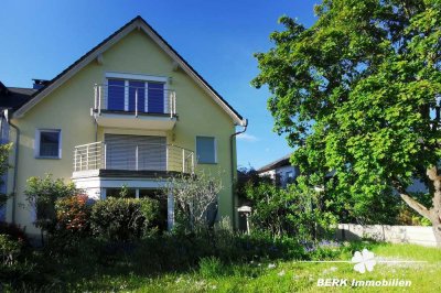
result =
[[[109,96],[109,90],[112,94]],[[138,115],[176,115],[176,93],[171,89],[95,85],[94,111],[118,111]],[[111,105],[115,104],[115,105]]]

